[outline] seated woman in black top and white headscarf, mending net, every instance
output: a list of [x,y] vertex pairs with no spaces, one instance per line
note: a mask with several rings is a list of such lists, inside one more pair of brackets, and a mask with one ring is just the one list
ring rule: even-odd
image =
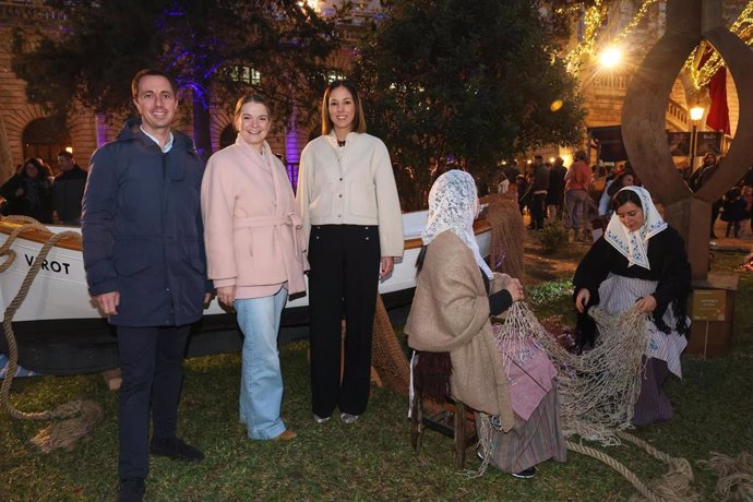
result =
[[[617,313],[637,303],[650,314],[646,369],[633,413],[633,423],[643,426],[672,417],[661,385],[670,372],[682,376],[691,270],[682,237],[661,218],[648,191],[625,187],[614,195],[612,206],[605,236],[594,242],[575,271],[575,307],[582,314],[595,304]],[[585,315],[578,324],[584,332],[578,343],[593,344],[597,326]]]

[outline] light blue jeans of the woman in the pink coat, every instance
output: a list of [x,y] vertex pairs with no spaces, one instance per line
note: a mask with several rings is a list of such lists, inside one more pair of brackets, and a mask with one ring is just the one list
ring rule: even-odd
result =
[[274,296],[239,299],[234,303],[243,332],[240,421],[248,427],[251,439],[267,440],[285,432],[285,423],[279,418],[283,374],[277,333],[287,298],[287,290],[280,287]]

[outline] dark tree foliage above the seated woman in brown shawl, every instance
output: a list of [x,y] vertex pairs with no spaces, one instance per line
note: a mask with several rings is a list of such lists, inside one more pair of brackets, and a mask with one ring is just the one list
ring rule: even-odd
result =
[[[405,210],[422,206],[446,168],[486,179],[516,153],[581,139],[576,81],[554,58],[553,39],[527,0],[391,2],[354,79],[370,131],[399,167]],[[558,99],[562,108],[551,111]]]

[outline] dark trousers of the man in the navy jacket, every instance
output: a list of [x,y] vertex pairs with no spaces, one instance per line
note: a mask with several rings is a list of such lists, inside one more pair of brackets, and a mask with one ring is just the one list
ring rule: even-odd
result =
[[150,467],[148,430],[152,405],[152,435],[176,435],[183,355],[191,326],[118,326],[118,350],[122,383],[120,425],[120,479],[145,478]]

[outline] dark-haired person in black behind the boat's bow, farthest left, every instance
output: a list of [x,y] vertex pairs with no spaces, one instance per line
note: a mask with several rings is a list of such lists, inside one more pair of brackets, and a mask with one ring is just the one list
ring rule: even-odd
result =
[[38,158],[27,158],[21,169],[0,187],[0,195],[8,201],[5,214],[52,223],[52,183],[47,166]]

